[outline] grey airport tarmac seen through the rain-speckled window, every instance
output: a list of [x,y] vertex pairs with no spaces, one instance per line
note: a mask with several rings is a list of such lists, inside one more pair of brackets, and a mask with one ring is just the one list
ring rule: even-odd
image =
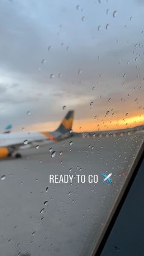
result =
[[[142,133],[72,137],[1,160],[0,255],[90,254],[142,141]],[[112,185],[101,172],[112,173]],[[98,183],[52,184],[49,174],[97,174]]]

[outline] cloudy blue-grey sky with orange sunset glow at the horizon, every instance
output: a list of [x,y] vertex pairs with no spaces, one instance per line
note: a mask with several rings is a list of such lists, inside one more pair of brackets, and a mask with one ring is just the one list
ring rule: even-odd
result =
[[[0,131],[144,123],[141,0],[1,0]],[[63,108],[65,106],[65,108]]]

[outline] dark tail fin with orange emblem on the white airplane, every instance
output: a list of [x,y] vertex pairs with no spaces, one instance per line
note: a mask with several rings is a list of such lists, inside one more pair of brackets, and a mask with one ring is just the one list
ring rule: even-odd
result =
[[73,118],[74,118],[74,111],[68,111],[67,115],[65,115],[64,119],[60,123],[59,128],[57,128],[57,131],[60,133],[66,133],[68,131],[71,131],[71,128],[73,126]]

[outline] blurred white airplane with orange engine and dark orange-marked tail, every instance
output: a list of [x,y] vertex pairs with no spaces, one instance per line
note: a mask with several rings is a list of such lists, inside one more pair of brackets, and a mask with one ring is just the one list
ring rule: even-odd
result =
[[55,131],[40,131],[37,133],[1,133],[0,134],[0,158],[15,156],[21,158],[18,150],[46,145],[52,142],[62,141],[73,136],[74,111],[68,111],[59,127]]

